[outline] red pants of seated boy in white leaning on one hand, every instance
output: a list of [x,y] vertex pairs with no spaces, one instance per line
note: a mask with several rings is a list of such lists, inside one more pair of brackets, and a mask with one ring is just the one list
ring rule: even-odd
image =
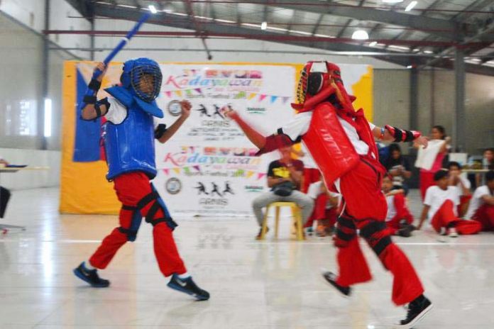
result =
[[481,230],[481,225],[476,221],[464,221],[456,217],[454,214],[454,203],[451,200],[446,200],[441,205],[441,208],[432,217],[431,225],[437,233],[441,228],[446,228],[451,223],[454,224],[456,231],[462,235],[476,234]]

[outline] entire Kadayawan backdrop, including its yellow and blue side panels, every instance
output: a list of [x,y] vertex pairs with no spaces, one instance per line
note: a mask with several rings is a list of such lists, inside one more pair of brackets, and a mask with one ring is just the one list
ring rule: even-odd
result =
[[[65,106],[82,99],[84,83],[89,82],[93,67],[92,62],[66,63]],[[191,115],[180,130],[167,143],[155,143],[158,176],[153,184],[170,212],[173,216],[252,216],[251,203],[269,191],[268,165],[279,155],[272,152],[256,157],[256,147],[233,121],[223,117],[220,109],[229,105],[260,133],[274,133],[295,115],[290,102],[295,98],[302,65],[160,64],[160,67],[163,84],[157,103],[165,118],[156,119],[156,123],[170,127],[180,117],[179,101],[187,99],[192,103]],[[341,65],[341,69],[346,86],[351,86],[351,92],[358,97],[360,104],[356,106],[366,106],[366,116],[371,119],[371,68]],[[117,84],[120,74],[121,63],[112,63],[103,86]],[[98,97],[105,96],[109,95],[101,89]],[[65,110],[62,212],[119,211],[111,183],[104,182],[106,163],[97,134],[104,122],[104,119],[82,121],[77,106]],[[91,173],[87,172],[89,168]],[[88,175],[100,176],[95,183],[84,179]],[[94,191],[102,193],[94,194]]]

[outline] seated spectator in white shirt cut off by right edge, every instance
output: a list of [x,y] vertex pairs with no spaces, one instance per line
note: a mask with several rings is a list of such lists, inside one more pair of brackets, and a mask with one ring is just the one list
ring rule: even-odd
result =
[[481,223],[482,230],[494,230],[494,171],[485,174],[485,182],[473,193],[465,217]]

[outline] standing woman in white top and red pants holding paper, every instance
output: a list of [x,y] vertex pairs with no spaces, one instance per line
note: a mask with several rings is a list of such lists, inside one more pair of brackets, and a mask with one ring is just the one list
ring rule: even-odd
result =
[[[432,161],[432,167],[426,166],[425,168],[420,167],[420,195],[422,200],[425,198],[425,191],[429,189],[430,186],[434,186],[434,174],[438,172],[442,167],[442,162],[446,156],[449,148],[449,137],[446,137],[446,130],[443,126],[434,126],[431,130],[431,140],[430,144],[426,150],[420,150],[420,152],[425,152],[424,157],[429,157]],[[434,147],[437,145],[437,147]],[[420,155],[419,155],[420,157]],[[429,168],[427,168],[429,167]]]

